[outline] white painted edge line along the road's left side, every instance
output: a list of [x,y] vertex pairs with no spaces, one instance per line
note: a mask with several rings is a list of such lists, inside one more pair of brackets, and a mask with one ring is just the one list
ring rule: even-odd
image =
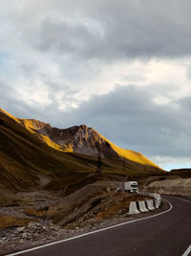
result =
[[37,249],[40,249],[40,248],[43,248],[43,247],[47,247],[47,246],[51,246],[53,244],[60,244],[60,243],[65,243],[65,242],[68,242],[68,241],[71,241],[71,240],[74,240],[74,239],[78,239],[78,238],[82,238],[82,237],[86,237],[86,236],[89,236],[89,235],[92,235],[92,234],[95,234],[95,233],[98,233],[98,232],[101,232],[101,231],[104,231],[104,230],[108,230],[108,229],[112,229],[114,227],[117,227],[117,226],[121,226],[121,225],[125,225],[125,224],[130,224],[130,223],[133,223],[133,222],[137,222],[137,221],[143,221],[143,220],[147,220],[147,219],[151,219],[151,218],[154,218],[154,217],[157,217],[159,215],[162,215],[162,214],[165,214],[169,211],[171,211],[173,209],[173,206],[172,204],[169,202],[169,200],[166,200],[166,199],[163,199],[165,201],[168,202],[168,204],[170,205],[170,208],[164,212],[161,212],[159,214],[156,214],[156,215],[152,215],[152,216],[148,216],[148,217],[144,217],[144,218],[141,218],[141,219],[138,219],[138,220],[134,220],[134,221],[126,221],[126,222],[122,222],[122,223],[119,223],[119,224],[116,224],[116,225],[112,225],[112,226],[108,226],[108,227],[104,227],[104,228],[101,228],[101,229],[97,229],[95,231],[91,231],[91,232],[88,232],[88,233],[85,233],[85,234],[81,234],[81,235],[78,235],[76,237],[72,237],[72,238],[67,238],[67,239],[64,239],[64,240],[59,240],[59,241],[55,241],[55,242],[52,242],[50,244],[42,244],[42,245],[39,245],[39,246],[36,246],[36,247],[32,247],[30,249],[26,249],[26,250],[21,250],[21,251],[17,251],[17,252],[14,252],[14,253],[11,253],[11,254],[7,254],[5,256],[15,256],[15,255],[19,255],[19,254],[22,254],[22,253],[25,253],[25,252],[30,252],[32,250],[37,250]]

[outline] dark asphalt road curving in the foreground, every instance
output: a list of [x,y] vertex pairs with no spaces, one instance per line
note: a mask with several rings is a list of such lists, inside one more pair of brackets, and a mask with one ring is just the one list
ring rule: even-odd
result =
[[191,198],[162,198],[173,205],[173,209],[163,215],[19,255],[180,256],[191,244]]

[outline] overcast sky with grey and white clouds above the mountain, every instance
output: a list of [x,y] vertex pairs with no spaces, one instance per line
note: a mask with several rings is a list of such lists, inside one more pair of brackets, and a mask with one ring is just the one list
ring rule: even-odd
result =
[[190,0],[0,0],[0,107],[191,167]]

